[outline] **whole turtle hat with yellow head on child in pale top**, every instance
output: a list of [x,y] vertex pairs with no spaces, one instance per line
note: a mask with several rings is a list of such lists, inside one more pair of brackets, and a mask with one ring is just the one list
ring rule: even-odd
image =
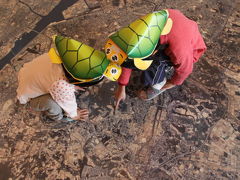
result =
[[50,59],[63,65],[76,80],[74,84],[93,82],[103,76],[116,81],[121,75],[121,67],[109,61],[104,52],[62,36],[54,36],[53,41],[55,48],[48,53]]

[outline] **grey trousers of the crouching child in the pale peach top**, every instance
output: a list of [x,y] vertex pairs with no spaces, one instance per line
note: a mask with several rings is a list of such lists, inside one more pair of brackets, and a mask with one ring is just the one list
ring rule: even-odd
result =
[[50,119],[61,120],[62,108],[52,99],[50,94],[45,94],[30,100],[30,107],[35,111],[44,112]]

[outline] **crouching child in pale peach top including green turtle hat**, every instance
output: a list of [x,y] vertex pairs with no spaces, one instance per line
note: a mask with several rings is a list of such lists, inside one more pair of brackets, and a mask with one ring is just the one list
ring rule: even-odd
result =
[[[21,104],[29,102],[31,109],[43,111],[53,120],[69,120],[68,117],[70,120],[85,120],[88,110],[77,107],[74,94],[76,90],[84,89],[74,84],[93,85],[100,82],[103,75],[118,79],[121,71],[119,74],[106,74],[105,71],[112,72],[113,69],[116,72],[118,67],[112,68],[103,52],[61,36],[54,37],[54,41],[57,53],[51,49],[49,53],[24,64],[19,71],[17,98]],[[88,54],[91,57],[88,58]]]

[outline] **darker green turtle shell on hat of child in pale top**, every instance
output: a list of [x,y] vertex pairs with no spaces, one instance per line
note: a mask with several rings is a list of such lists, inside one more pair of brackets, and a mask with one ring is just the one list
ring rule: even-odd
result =
[[75,79],[102,76],[110,62],[105,53],[74,39],[56,36],[55,46],[64,67]]

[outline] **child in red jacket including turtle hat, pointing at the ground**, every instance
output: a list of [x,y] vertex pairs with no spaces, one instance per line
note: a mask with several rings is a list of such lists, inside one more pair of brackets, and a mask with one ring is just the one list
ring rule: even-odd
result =
[[[154,24],[155,21],[156,24]],[[130,27],[130,30],[128,30],[128,27]],[[192,73],[193,64],[206,50],[197,23],[188,19],[178,10],[167,9],[151,13],[131,23],[128,27],[122,28],[119,32],[110,36],[113,41],[111,44],[115,43],[115,47],[112,49],[120,47],[118,51],[123,50],[123,53],[126,53],[128,57],[132,56],[132,59],[139,58],[142,54],[145,57],[151,55],[147,59],[153,59],[153,62],[146,71],[143,71],[143,80],[149,88],[146,91],[141,90],[138,94],[143,100],[150,100],[167,89],[181,85]],[[160,30],[158,31],[157,28]],[[121,37],[119,38],[119,36]],[[134,44],[135,39],[138,41]],[[156,53],[157,46],[166,47],[163,51]],[[111,51],[107,49],[106,53],[108,52]],[[164,74],[168,60],[174,67],[174,74],[169,80],[166,79]],[[163,61],[163,63],[160,63],[160,61]],[[124,62],[124,60],[121,59],[121,62]],[[134,64],[137,65],[137,62],[140,61],[134,59]],[[124,66],[124,64],[126,64],[126,61],[122,65]],[[132,71],[129,67],[123,67],[118,80],[119,86],[115,94],[116,108],[119,102],[126,97],[125,87]]]

